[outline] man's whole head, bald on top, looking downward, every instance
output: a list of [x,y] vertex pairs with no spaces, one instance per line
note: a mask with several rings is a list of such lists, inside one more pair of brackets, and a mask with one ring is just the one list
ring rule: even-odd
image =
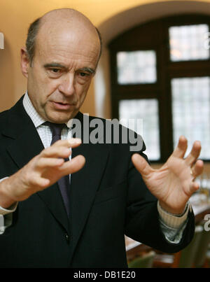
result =
[[21,68],[31,103],[44,120],[66,123],[85,101],[101,42],[82,13],[52,10],[29,27]]

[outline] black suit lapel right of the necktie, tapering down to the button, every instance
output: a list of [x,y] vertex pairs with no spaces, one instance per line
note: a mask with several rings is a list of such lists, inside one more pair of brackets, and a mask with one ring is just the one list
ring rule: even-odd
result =
[[[80,120],[81,116],[77,115],[77,118]],[[102,180],[109,158],[109,146],[106,146],[106,144],[82,143],[78,148],[72,150],[72,157],[76,157],[76,155],[85,157],[85,166],[71,175],[72,251],[75,251]]]

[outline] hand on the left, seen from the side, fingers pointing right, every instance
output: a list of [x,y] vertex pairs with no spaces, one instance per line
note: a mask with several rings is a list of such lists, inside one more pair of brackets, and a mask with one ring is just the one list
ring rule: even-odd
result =
[[32,194],[48,188],[62,176],[73,174],[83,168],[85,157],[78,155],[68,162],[71,148],[76,148],[80,139],[59,140],[36,155],[25,167],[0,183],[0,206],[8,209]]

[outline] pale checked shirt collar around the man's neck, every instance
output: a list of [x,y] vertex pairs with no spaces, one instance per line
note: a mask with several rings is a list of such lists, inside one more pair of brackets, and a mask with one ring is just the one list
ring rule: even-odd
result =
[[[23,97],[22,104],[36,128],[42,125],[46,121],[41,117],[41,115],[39,115],[39,113],[37,113],[36,109],[31,103],[28,92],[25,92],[25,96]],[[66,126],[69,128],[71,128],[71,124],[72,124],[72,120],[66,122]]]

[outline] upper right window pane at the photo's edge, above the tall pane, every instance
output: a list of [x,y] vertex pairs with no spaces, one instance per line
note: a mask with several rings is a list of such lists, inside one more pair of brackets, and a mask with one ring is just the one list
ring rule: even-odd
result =
[[205,48],[207,24],[169,27],[170,57],[173,62],[209,59],[209,48]]

